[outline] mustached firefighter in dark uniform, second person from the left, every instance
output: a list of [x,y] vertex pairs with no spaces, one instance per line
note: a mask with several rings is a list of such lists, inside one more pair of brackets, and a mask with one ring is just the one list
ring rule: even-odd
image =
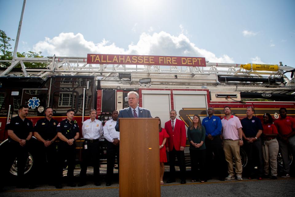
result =
[[[49,185],[54,185],[56,173],[57,150],[54,141],[57,139],[57,124],[58,121],[52,118],[53,110],[51,107],[45,109],[45,118],[37,121],[34,127],[34,136],[42,143],[39,150],[42,164],[41,171],[47,177]],[[39,146],[40,147],[40,146]]]

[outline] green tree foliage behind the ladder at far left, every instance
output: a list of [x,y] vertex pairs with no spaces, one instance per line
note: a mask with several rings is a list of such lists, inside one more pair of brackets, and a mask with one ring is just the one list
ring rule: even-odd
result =
[[[11,49],[10,41],[14,41],[14,39],[7,37],[6,33],[0,30],[0,60],[12,60],[13,51],[9,51]],[[43,58],[44,56],[41,53],[41,51],[17,52],[16,56],[19,58]],[[24,64],[26,68],[45,68],[48,66],[48,63],[42,62],[24,62]],[[10,65],[11,62],[0,62],[0,67],[8,67]],[[21,68],[21,65],[16,66],[16,68]]]

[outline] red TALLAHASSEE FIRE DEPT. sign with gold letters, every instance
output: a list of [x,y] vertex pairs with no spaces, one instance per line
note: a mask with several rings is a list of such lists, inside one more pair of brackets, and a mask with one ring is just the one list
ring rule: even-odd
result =
[[156,55],[87,54],[87,63],[159,66],[206,66],[205,58]]

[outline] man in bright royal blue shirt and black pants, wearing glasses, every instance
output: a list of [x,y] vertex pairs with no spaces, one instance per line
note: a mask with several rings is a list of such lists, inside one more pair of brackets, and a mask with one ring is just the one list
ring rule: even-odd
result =
[[[214,115],[213,107],[209,107],[208,110],[208,117],[204,118],[202,121],[202,125],[206,129],[206,173],[207,179],[212,179],[212,171],[214,168],[217,168],[218,178],[221,181],[224,181],[224,177],[226,177],[226,162],[224,152],[222,150],[222,141],[220,138],[222,123],[218,116]],[[218,165],[214,165],[213,167],[213,158]]]

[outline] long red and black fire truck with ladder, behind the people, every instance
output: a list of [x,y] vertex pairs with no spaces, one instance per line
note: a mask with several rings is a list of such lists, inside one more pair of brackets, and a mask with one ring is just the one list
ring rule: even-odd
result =
[[[81,123],[89,119],[90,109],[96,109],[97,118],[104,122],[111,119],[112,110],[120,111],[128,107],[129,91],[138,92],[139,106],[149,109],[152,117],[158,116],[162,120],[162,127],[169,120],[169,112],[172,109],[176,110],[178,118],[186,127],[189,127],[195,114],[201,119],[206,117],[208,107],[213,107],[215,115],[221,118],[224,116],[225,106],[230,106],[240,119],[246,117],[246,107],[249,106],[255,109],[255,115],[260,119],[265,113],[271,114],[274,120],[278,119],[281,107],[287,108],[289,116],[295,116],[295,96],[291,94],[295,91],[294,68],[283,66],[281,62],[279,65],[243,65],[204,61],[205,66],[203,64],[201,67],[192,64],[175,66],[168,65],[169,62],[149,64],[144,62],[144,56],[141,63],[140,57],[137,56],[136,63],[115,64],[107,62],[108,59],[101,62],[101,55],[99,64],[96,64],[88,62],[89,56],[88,54],[88,59],[55,56],[16,58],[11,61],[10,67],[0,70],[0,154],[5,151],[7,145],[6,123],[18,115],[20,105],[29,107],[27,118],[33,124],[44,118],[46,107],[53,108],[53,118],[58,121],[66,118],[68,109],[74,109],[74,119],[80,128]],[[170,58],[172,62],[173,57]],[[135,60],[133,57],[130,59]],[[192,62],[193,60],[192,58]],[[189,58],[186,57],[186,61],[188,63]],[[26,62],[42,62],[48,66],[26,68]],[[18,65],[21,65],[21,68],[17,68]],[[286,77],[286,73],[291,73],[291,79]],[[80,136],[82,137],[81,131]],[[76,141],[77,163],[81,159],[83,141],[83,138]],[[103,138],[100,144],[101,164],[105,165],[106,146]],[[29,143],[26,174],[39,165],[35,159],[38,146],[40,143],[32,138]],[[187,140],[187,158],[188,148]],[[241,156],[245,167],[245,151],[241,150]],[[292,154],[289,158],[291,163]],[[187,165],[189,162],[187,159]],[[282,165],[280,153],[278,163]],[[17,174],[17,161],[10,172]]]

